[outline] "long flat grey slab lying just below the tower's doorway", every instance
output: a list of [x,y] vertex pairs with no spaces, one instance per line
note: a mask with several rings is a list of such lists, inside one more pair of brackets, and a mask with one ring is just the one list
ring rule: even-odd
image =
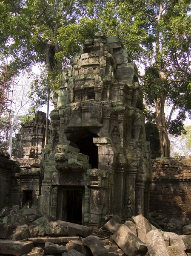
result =
[[68,236],[91,236],[93,230],[91,227],[86,227],[83,225],[66,222],[66,221],[55,221],[60,226],[68,226]]

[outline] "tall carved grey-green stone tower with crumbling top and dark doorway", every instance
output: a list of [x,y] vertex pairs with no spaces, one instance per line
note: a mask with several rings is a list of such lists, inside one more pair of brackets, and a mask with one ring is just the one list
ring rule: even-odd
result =
[[43,150],[40,209],[97,226],[117,214],[148,215],[151,184],[143,95],[117,37],[97,35],[64,70]]

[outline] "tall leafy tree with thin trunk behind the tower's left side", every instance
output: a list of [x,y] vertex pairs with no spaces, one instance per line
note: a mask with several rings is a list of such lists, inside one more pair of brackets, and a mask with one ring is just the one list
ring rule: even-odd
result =
[[[30,96],[32,98],[35,94],[40,98],[33,101],[35,110],[47,102],[47,124],[49,99],[51,92],[60,83],[62,67],[79,50],[84,36],[94,33],[94,27],[91,26],[93,30],[90,30],[87,24],[91,17],[94,20],[93,9],[95,10],[96,5],[98,9],[102,6],[94,0],[3,0],[0,3],[0,17],[3,20],[0,28],[0,35],[3,35],[0,40],[1,55],[4,58],[9,54],[11,66],[15,70],[31,70],[37,63],[43,67],[40,77],[37,77],[31,87]],[[72,42],[72,37],[81,35],[76,38],[77,47],[68,47],[63,42],[61,44],[59,33],[68,25],[77,24],[78,27],[79,24],[82,25],[78,33],[73,30],[69,36],[65,36],[66,40],[69,38],[68,41]],[[63,29],[59,32],[61,27]],[[59,52],[63,52],[62,59],[57,58]]]

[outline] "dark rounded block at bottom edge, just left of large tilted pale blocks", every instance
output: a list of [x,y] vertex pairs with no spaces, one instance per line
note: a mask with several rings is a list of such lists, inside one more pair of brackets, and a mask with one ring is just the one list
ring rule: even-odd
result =
[[82,239],[82,242],[91,250],[93,256],[108,256],[108,250],[97,236],[87,236]]

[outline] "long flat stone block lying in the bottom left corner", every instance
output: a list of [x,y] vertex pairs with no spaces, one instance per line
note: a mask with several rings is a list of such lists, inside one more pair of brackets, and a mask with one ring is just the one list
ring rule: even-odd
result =
[[20,242],[0,239],[0,253],[21,256],[30,253],[33,248],[33,242]]

